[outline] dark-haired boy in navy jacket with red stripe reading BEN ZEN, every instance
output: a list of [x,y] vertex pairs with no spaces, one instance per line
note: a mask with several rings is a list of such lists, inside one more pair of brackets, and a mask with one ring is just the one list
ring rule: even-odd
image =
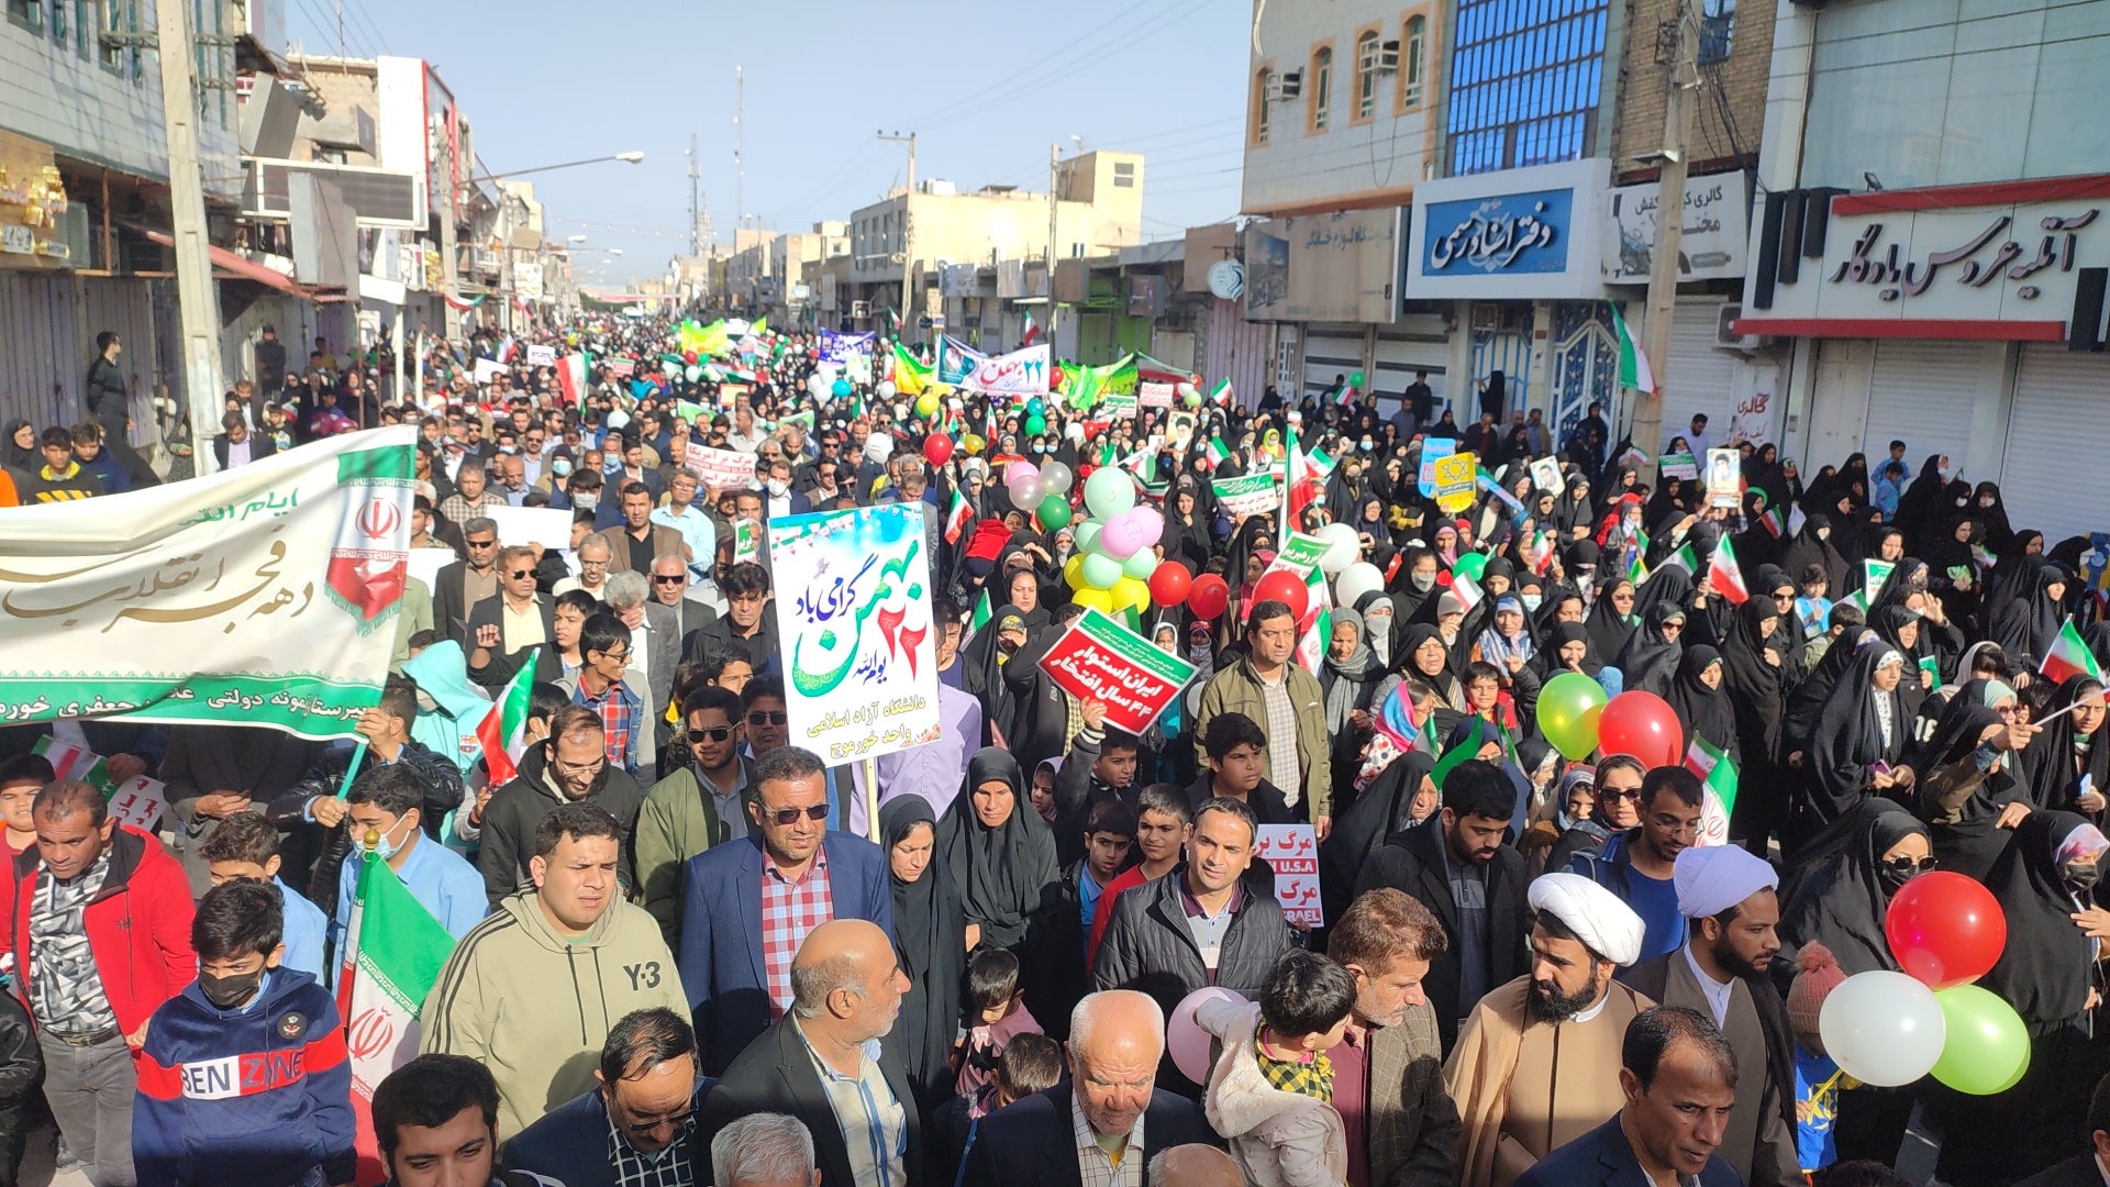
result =
[[154,1012],[139,1052],[139,1187],[352,1181],[352,1067],[338,1005],[279,967],[281,900],[236,879],[198,902],[198,980]]

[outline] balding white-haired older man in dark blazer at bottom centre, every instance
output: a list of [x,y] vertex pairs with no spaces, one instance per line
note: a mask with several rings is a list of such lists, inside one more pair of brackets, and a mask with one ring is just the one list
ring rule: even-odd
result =
[[[1165,1012],[1148,995],[1108,988],[1085,997],[1070,1014],[1070,1084],[1021,1096],[983,1117],[966,1155],[973,1164],[966,1181],[1082,1187],[1080,1160],[1108,1162],[1108,1155],[1095,1145],[1078,1147],[1076,1117],[1095,1134],[1127,1138],[1123,1168],[1131,1157],[1150,1166],[1158,1151],[1175,1145],[1222,1147],[1224,1138],[1198,1105],[1156,1088],[1163,1052]],[[1095,1166],[1099,1181],[1104,1170]]]

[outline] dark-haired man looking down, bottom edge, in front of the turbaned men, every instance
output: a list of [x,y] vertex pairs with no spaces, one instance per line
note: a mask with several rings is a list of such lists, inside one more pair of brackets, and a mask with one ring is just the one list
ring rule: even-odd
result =
[[1741,1187],[1715,1153],[1737,1105],[1737,1052],[1713,1018],[1644,1010],[1618,1054],[1618,1115],[1538,1160],[1515,1187]]

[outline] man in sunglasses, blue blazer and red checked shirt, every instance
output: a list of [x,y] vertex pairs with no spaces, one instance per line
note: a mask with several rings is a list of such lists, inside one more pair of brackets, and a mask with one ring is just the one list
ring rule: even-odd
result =
[[827,830],[827,769],[785,746],[755,760],[749,832],[690,858],[682,891],[682,984],[707,1075],[724,1075],[791,1007],[791,957],[829,919],[895,934],[886,853]]

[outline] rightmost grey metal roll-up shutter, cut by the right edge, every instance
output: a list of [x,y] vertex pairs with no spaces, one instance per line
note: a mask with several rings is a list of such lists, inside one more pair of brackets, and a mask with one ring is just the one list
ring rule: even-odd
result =
[[[2110,359],[2030,342],[2015,372],[2000,494],[2007,522],[2045,532],[2045,551],[2066,536],[2110,532],[2110,490],[2099,425],[2110,408]],[[1964,475],[1971,477],[1971,475]]]

